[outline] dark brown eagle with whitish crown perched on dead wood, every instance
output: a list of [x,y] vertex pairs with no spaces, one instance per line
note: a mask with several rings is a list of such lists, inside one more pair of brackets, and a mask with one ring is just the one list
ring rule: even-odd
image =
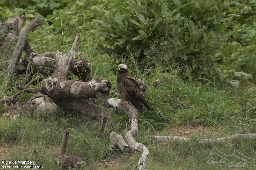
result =
[[118,66],[116,78],[117,92],[124,99],[124,103],[132,104],[143,114],[142,104],[149,110],[149,106],[145,101],[145,96],[140,89],[138,82],[128,73],[128,68],[125,64]]

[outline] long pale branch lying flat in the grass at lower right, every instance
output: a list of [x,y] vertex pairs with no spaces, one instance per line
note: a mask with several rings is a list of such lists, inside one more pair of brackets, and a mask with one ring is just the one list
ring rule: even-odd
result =
[[[180,142],[188,142],[191,139],[187,137],[177,137],[177,136],[150,136],[150,140],[157,142],[166,142],[170,140],[180,141]],[[256,139],[256,133],[246,133],[246,134],[236,134],[227,137],[219,137],[219,138],[208,138],[208,139],[198,139],[198,145],[216,145],[220,142],[232,141],[235,139],[248,140],[248,139]]]

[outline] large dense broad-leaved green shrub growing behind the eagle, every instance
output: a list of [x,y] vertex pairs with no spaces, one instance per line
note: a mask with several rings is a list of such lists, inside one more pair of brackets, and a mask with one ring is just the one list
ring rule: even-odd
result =
[[[99,52],[115,60],[135,56],[139,67],[171,63],[201,74],[211,67],[227,1],[127,1],[106,11],[99,23],[105,37]],[[186,68],[185,66],[188,66]]]

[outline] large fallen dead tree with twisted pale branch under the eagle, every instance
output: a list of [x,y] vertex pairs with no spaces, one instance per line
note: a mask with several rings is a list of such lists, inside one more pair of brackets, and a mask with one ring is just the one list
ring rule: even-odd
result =
[[[74,44],[76,44],[76,42],[75,39],[73,47],[75,47]],[[139,144],[134,140],[134,137],[138,134],[138,112],[130,104],[124,104],[123,100],[110,98],[108,96],[111,89],[109,81],[102,80],[97,83],[95,80],[92,80],[84,83],[81,81],[65,80],[69,68],[69,64],[67,63],[71,61],[71,56],[73,56],[71,53],[73,52],[74,54],[74,50],[72,49],[68,55],[60,56],[60,60],[52,77],[43,80],[40,92],[47,94],[60,108],[76,110],[76,112],[88,115],[93,120],[99,120],[101,129],[107,121],[110,123],[107,127],[113,127],[113,122],[111,121],[108,110],[104,107],[97,107],[95,104],[85,99],[97,98],[101,105],[116,108],[127,114],[131,122],[131,130],[126,133],[125,139],[133,150],[142,153],[138,164],[139,169],[142,169],[145,165],[143,161],[148,158],[149,152],[144,144]],[[113,139],[117,141],[120,140],[120,142],[113,141],[112,143],[118,144],[120,149],[124,149],[126,145],[124,140],[120,139],[120,136],[116,135],[114,132],[112,135],[114,135]]]

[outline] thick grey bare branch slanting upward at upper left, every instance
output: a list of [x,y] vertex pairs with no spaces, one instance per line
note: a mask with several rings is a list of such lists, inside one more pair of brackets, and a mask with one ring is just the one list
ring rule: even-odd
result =
[[12,75],[15,72],[15,70],[17,69],[17,66],[20,61],[20,56],[21,56],[22,51],[25,46],[25,40],[28,35],[28,32],[31,31],[32,29],[36,28],[37,26],[42,25],[43,23],[44,23],[44,19],[35,18],[35,19],[31,20],[28,24],[26,24],[26,26],[24,26],[24,28],[21,30],[17,45],[13,52],[11,63],[8,66],[9,75]]

